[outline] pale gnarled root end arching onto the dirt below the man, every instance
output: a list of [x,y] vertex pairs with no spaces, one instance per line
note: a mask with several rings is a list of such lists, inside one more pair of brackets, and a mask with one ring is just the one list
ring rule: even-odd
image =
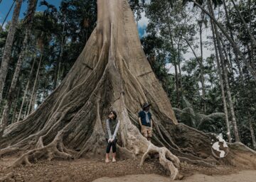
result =
[[182,178],[182,176],[178,174],[178,169],[180,169],[180,161],[178,157],[171,154],[169,149],[166,149],[166,147],[156,147],[154,144],[149,144],[147,151],[142,156],[140,165],[142,166],[144,164],[144,161],[149,154],[156,153],[159,154],[160,164],[164,166],[164,169],[170,171],[171,180]]

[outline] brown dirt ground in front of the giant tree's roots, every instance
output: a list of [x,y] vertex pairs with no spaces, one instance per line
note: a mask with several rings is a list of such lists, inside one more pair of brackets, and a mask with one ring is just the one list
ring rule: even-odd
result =
[[[144,166],[139,166],[138,159],[128,159],[117,161],[117,163],[105,164],[104,159],[75,159],[73,161],[38,161],[32,166],[19,166],[9,168],[8,166],[15,161],[16,158],[5,157],[0,159],[0,178],[6,174],[13,173],[15,181],[145,181],[151,178],[154,181],[168,181],[168,174],[159,164],[157,159],[146,160]],[[245,181],[246,176],[253,176],[256,181],[256,171],[240,171],[231,166],[218,166],[217,168],[206,168],[181,164],[181,174],[185,176],[183,181],[213,181],[215,176],[227,179],[235,178],[240,175],[240,181]],[[238,173],[239,171],[239,173]],[[244,174],[245,173],[245,174]],[[249,173],[249,174],[247,174]],[[146,176],[144,175],[146,174]],[[193,175],[196,174],[196,175]],[[132,175],[132,176],[130,176]],[[193,176],[192,176],[193,175]],[[206,176],[208,175],[208,176]],[[225,176],[220,176],[225,175]],[[235,176],[234,176],[235,175]],[[120,177],[121,178],[117,178]],[[105,177],[105,178],[103,178]],[[107,178],[106,178],[107,177]],[[101,178],[101,179],[100,179]],[[110,180],[111,178],[111,180]],[[196,179],[195,179],[196,178]],[[95,182],[96,182],[95,181]],[[137,182],[136,181],[136,182]],[[147,182],[150,182],[146,180]],[[214,180],[215,181],[215,180]],[[225,180],[227,181],[227,180]],[[246,181],[250,182],[250,180]]]

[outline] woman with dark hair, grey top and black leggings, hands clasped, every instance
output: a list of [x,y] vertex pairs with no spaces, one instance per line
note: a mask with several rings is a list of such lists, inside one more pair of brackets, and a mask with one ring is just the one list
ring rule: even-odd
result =
[[110,162],[110,149],[112,147],[112,162],[116,161],[116,143],[117,143],[117,131],[120,125],[120,121],[117,120],[117,112],[111,110],[106,120],[106,141],[107,141],[107,151],[106,151],[106,159],[105,162]]

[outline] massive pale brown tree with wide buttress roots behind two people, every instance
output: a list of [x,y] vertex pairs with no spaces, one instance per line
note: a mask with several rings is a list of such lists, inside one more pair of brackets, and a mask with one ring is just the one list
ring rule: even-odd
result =
[[[98,0],[97,7],[97,27],[73,68],[34,113],[6,127],[0,154],[26,150],[14,166],[41,158],[103,156],[105,119],[114,109],[121,121],[118,153],[123,157],[159,153],[160,163],[173,179],[178,178],[180,161],[206,166],[225,162],[255,169],[256,152],[237,143],[219,160],[211,152],[214,135],[177,123],[144,55],[127,0]],[[140,134],[137,123],[145,101],[152,104],[153,144]]]

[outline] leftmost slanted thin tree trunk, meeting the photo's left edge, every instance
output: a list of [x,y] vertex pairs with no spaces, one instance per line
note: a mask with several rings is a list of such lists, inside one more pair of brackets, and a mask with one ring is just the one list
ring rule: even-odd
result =
[[13,14],[13,17],[11,18],[11,25],[9,28],[9,33],[6,38],[6,45],[4,47],[4,53],[3,53],[3,58],[1,61],[1,68],[0,68],[0,103],[3,97],[4,84],[5,84],[6,75],[8,72],[9,60],[11,58],[11,48],[14,43],[14,34],[16,32],[16,27],[18,24],[18,16],[21,11],[22,1],[23,0],[16,0],[16,4],[14,7],[14,14]]

